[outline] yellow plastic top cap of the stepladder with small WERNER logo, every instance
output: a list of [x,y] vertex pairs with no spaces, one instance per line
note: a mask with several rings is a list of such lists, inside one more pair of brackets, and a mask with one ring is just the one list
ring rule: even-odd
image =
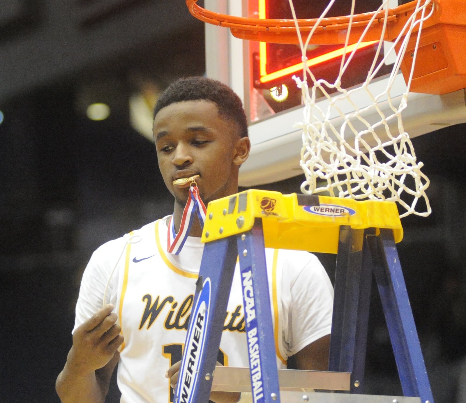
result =
[[394,202],[251,189],[209,203],[201,241],[249,231],[257,218],[262,219],[268,248],[337,253],[341,225],[389,228],[395,242],[403,239]]

